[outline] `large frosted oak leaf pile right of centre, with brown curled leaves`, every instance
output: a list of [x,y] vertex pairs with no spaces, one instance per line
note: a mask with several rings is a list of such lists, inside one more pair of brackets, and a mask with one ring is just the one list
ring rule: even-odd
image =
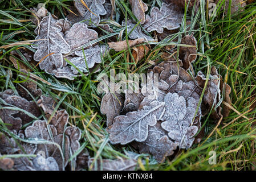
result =
[[[191,63],[197,57],[196,39],[186,35],[181,42],[191,47],[180,47],[180,60],[176,60],[177,47],[166,46],[162,54],[165,61],[148,70],[148,82],[139,92],[126,90],[124,97],[120,93],[105,94],[101,113],[107,115],[111,143],[131,143],[140,153],[152,154],[158,162],[163,162],[178,148],[192,146],[201,127],[202,115],[211,109],[216,119],[229,114],[228,107],[217,106],[222,101],[223,90],[223,99],[231,104],[229,85],[222,82],[215,67],[212,67],[207,85],[202,72],[193,75]],[[159,74],[157,81],[153,77],[155,74]],[[201,140],[198,137],[196,142]]]

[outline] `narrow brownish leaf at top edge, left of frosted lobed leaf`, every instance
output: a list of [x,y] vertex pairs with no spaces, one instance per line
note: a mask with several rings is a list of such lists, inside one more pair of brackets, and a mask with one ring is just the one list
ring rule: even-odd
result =
[[148,6],[142,0],[129,0],[132,5],[132,13],[140,20],[141,24],[145,23],[145,11],[148,11]]

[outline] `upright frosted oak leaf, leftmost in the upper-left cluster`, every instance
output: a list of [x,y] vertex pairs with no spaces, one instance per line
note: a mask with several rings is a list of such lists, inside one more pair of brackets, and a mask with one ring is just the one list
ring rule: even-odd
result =
[[32,48],[37,49],[34,60],[40,62],[40,69],[44,69],[47,73],[52,73],[54,69],[63,67],[62,53],[71,51],[70,46],[62,36],[62,28],[56,24],[58,20],[54,19],[51,14],[45,16],[35,29],[35,44]]

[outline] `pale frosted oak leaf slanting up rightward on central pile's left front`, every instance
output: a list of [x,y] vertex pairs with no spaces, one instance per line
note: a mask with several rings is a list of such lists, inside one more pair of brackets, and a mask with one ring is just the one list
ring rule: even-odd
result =
[[153,101],[141,110],[115,117],[113,125],[108,128],[109,139],[121,144],[133,140],[144,142],[148,137],[148,126],[156,125],[165,111],[164,105],[164,102]]

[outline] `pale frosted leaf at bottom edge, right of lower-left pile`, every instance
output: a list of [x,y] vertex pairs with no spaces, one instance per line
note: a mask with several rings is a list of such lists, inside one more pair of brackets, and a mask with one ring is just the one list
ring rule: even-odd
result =
[[[90,159],[88,166],[90,167],[94,158]],[[137,167],[137,160],[135,159],[116,159],[116,160],[102,160],[102,168],[100,160],[96,160],[97,165],[92,166],[93,171],[134,171]],[[97,167],[97,168],[95,168]]]

